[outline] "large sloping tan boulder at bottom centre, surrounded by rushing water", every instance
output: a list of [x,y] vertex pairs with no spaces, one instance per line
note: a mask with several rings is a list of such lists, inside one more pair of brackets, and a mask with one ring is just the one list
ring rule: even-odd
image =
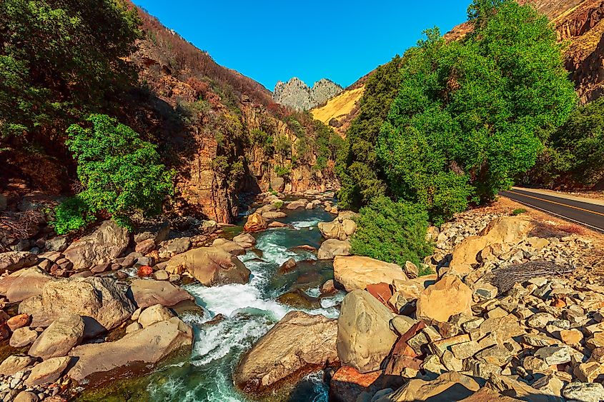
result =
[[291,311],[242,358],[234,382],[244,391],[263,393],[279,382],[297,381],[337,362],[336,337],[335,320]]

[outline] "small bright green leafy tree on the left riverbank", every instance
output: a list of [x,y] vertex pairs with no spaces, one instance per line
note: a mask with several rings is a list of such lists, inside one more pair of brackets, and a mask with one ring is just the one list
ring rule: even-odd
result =
[[56,208],[57,233],[85,226],[95,213],[109,213],[117,223],[129,226],[134,213],[161,212],[173,191],[174,171],[160,164],[155,146],[107,115],[92,114],[86,120],[91,127],[73,124],[67,130],[67,146],[78,163],[84,191],[76,201]]

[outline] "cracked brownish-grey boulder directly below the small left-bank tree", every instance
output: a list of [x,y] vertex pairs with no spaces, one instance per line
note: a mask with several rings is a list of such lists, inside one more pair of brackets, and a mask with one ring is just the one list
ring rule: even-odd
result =
[[88,236],[71,243],[63,252],[74,263],[75,269],[88,269],[100,263],[111,262],[127,248],[129,234],[114,221],[104,221]]

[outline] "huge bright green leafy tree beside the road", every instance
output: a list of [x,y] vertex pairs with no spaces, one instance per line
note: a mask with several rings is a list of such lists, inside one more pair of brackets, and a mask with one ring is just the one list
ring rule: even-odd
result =
[[407,51],[377,139],[389,191],[436,223],[510,186],[576,104],[547,17],[512,0],[477,0],[469,17],[463,41],[431,29]]

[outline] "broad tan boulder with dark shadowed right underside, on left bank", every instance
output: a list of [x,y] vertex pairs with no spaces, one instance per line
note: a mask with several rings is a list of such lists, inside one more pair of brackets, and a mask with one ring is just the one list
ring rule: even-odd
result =
[[50,281],[40,295],[19,304],[19,313],[32,316],[31,326],[49,326],[67,314],[81,316],[86,338],[119,326],[133,312],[134,304],[115,279],[96,276]]

